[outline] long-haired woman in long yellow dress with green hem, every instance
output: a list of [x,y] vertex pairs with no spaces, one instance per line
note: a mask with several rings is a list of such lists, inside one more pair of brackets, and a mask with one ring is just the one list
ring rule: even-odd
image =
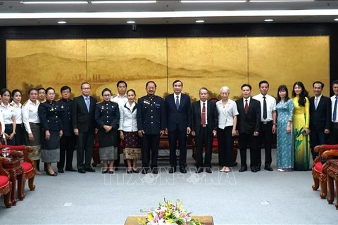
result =
[[302,82],[294,83],[292,89],[294,117],[292,128],[294,135],[294,170],[308,170],[310,159],[310,102],[308,91]]

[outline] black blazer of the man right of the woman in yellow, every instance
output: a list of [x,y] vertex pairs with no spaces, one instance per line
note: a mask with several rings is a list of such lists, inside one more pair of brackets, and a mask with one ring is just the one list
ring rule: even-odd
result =
[[310,129],[316,131],[324,131],[324,129],[330,129],[331,99],[322,96],[317,105],[317,110],[315,110],[315,97],[311,97],[309,101],[310,101]]

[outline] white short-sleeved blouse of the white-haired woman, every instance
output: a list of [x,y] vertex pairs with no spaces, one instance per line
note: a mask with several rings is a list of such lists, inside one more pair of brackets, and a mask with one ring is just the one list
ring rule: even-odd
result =
[[218,128],[225,129],[234,125],[234,117],[238,115],[236,102],[231,99],[227,100],[227,104],[223,107],[222,100],[216,103],[218,110]]

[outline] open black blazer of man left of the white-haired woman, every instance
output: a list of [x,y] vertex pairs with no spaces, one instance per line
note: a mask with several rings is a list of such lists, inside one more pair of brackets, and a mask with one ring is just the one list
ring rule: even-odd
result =
[[[217,130],[218,126],[218,111],[216,104],[212,101],[207,101],[207,115],[208,120],[208,133],[212,134],[213,130]],[[199,135],[201,131],[201,103],[200,101],[195,101],[192,103],[192,131],[195,131],[196,136]]]

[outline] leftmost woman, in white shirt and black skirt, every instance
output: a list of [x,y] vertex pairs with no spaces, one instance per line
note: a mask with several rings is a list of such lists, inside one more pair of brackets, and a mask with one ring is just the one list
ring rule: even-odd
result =
[[0,91],[2,102],[0,105],[0,110],[2,115],[4,115],[5,122],[5,137],[8,146],[15,146],[15,112],[13,106],[10,104],[11,100],[11,91],[8,89],[2,89]]

